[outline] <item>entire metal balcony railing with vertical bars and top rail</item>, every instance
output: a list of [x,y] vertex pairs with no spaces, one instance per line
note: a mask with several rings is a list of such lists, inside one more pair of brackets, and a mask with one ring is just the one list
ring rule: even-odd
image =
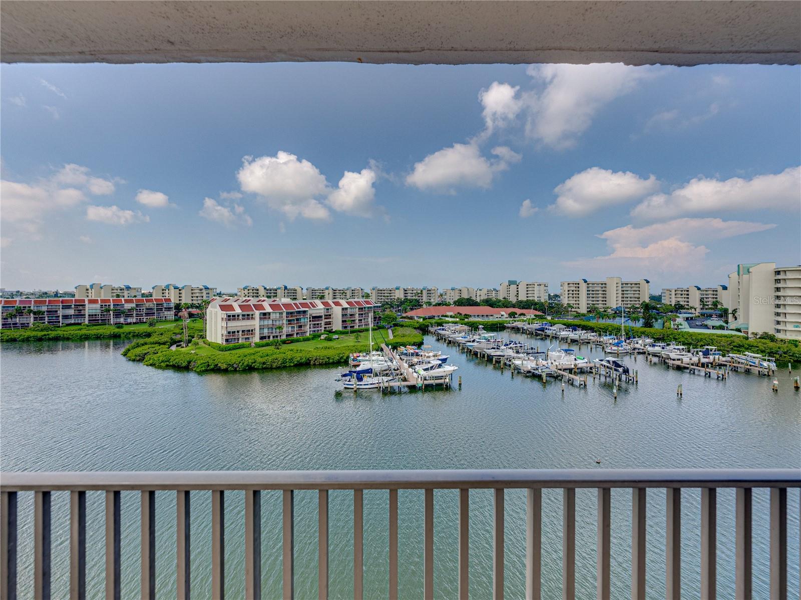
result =
[[597,589],[610,599],[612,488],[632,490],[631,598],[645,598],[646,490],[666,494],[666,596],[681,593],[683,488],[701,490],[701,598],[715,598],[717,490],[736,490],[736,598],[751,598],[751,490],[770,489],[771,600],[787,598],[787,488],[801,487],[801,470],[353,470],[191,472],[6,472],[0,474],[0,598],[17,598],[18,494],[34,493],[34,596],[50,598],[50,494],[70,492],[70,598],[86,597],[86,493],[106,493],[106,596],[120,595],[120,492],[141,493],[141,595],[155,597],[155,495],[175,492],[178,598],[189,598],[191,494],[211,493],[211,595],[223,598],[224,502],[244,493],[245,594],[261,597],[261,491],[283,490],[283,590],[294,596],[294,491],[318,490],[319,594],[328,598],[328,491],[353,490],[353,590],[363,592],[364,490],[389,490],[388,598],[398,597],[398,490],[425,490],[424,590],[433,598],[434,490],[459,493],[459,598],[468,596],[469,490],[494,490],[493,598],[504,594],[504,490],[525,489],[525,596],[541,598],[542,490],[562,489],[562,598],[575,597],[576,490],[598,490]]

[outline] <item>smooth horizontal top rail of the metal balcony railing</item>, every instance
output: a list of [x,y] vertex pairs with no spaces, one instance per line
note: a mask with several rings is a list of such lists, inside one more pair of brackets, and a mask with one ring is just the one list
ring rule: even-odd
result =
[[801,469],[6,471],[0,490],[801,487]]

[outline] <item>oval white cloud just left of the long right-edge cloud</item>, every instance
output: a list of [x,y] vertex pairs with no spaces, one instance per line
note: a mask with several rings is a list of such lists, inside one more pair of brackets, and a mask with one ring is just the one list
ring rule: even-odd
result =
[[641,178],[629,171],[594,166],[556,186],[553,193],[557,199],[549,208],[569,217],[584,217],[606,206],[641,200],[658,189],[654,175]]

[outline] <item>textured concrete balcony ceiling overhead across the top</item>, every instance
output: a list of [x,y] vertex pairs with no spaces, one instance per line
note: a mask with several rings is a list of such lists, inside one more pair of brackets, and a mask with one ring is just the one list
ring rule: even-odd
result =
[[797,64],[801,2],[3,0],[2,62]]

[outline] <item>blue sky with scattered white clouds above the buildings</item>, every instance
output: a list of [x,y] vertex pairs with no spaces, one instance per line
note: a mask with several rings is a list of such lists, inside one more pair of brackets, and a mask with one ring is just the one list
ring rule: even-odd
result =
[[2,66],[2,286],[801,261],[798,66]]

